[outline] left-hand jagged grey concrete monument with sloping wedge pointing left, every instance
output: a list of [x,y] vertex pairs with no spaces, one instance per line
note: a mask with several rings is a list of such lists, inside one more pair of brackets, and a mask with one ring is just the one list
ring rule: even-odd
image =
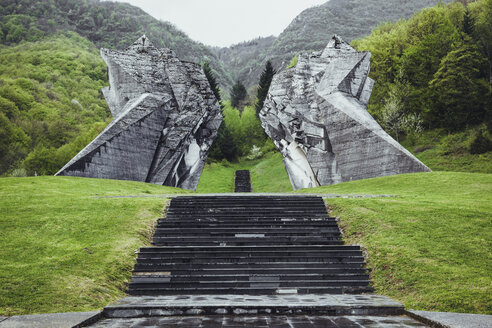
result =
[[195,189],[222,115],[198,64],[145,36],[101,49],[114,120],[56,175],[135,180]]

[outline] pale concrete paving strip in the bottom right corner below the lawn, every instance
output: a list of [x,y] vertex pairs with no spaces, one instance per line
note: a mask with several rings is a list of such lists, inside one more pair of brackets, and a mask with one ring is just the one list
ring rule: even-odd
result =
[[492,315],[453,313],[453,312],[430,312],[430,311],[408,311],[414,318],[428,323],[429,325],[440,325],[449,328],[490,328],[492,327]]

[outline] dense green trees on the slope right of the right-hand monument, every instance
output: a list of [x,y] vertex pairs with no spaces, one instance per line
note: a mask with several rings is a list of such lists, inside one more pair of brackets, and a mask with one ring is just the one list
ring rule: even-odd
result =
[[492,150],[492,0],[427,8],[352,45],[372,54],[368,110],[393,137],[439,130],[461,151]]

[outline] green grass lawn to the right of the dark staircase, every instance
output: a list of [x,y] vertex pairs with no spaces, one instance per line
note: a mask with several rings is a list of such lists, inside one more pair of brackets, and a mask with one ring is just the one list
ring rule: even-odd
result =
[[405,174],[301,192],[396,195],[328,200],[346,242],[367,250],[376,292],[407,309],[492,313],[492,174]]

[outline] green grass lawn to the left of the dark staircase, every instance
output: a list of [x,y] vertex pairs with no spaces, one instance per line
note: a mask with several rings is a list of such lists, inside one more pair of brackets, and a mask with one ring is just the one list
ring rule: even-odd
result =
[[99,309],[125,295],[167,199],[131,181],[0,178],[0,315]]

